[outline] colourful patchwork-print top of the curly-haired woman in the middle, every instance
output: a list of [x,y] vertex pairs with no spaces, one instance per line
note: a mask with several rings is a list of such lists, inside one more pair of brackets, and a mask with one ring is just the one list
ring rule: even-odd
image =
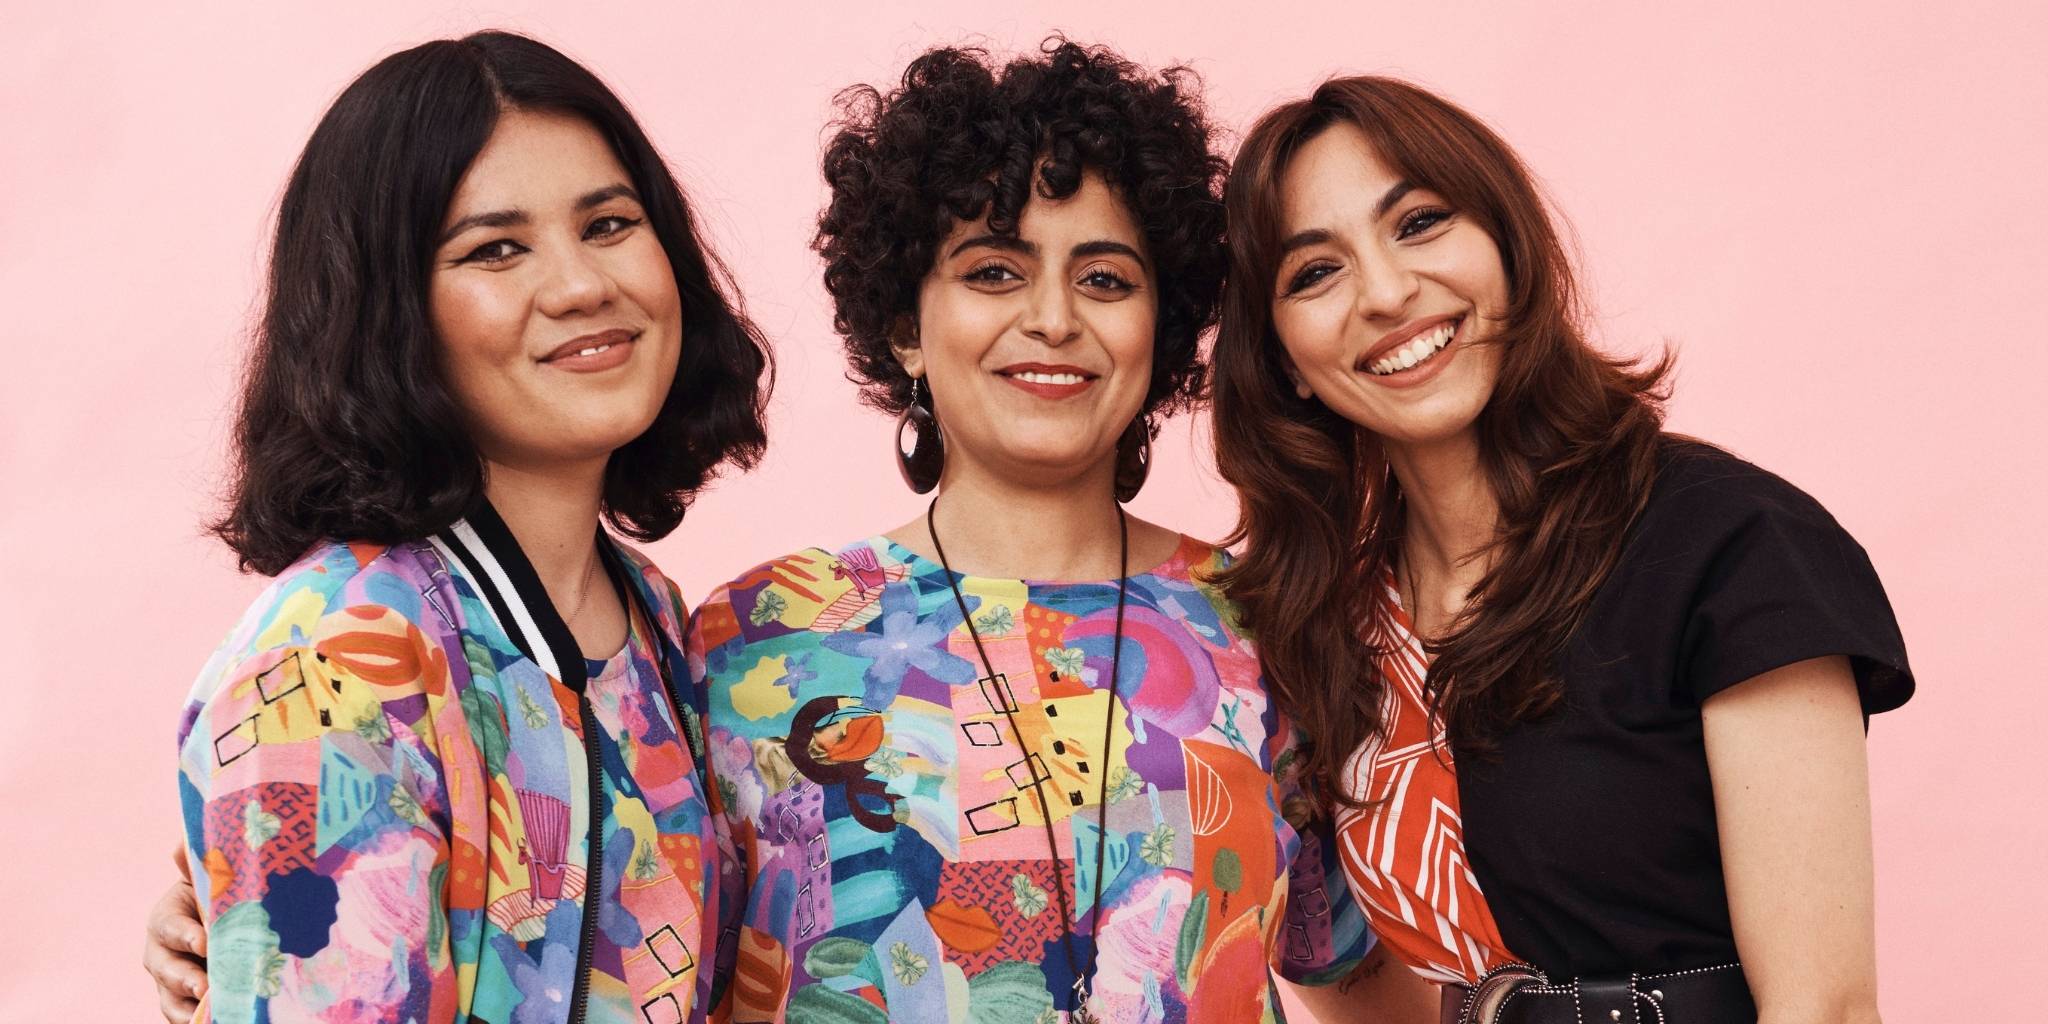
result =
[[719,1010],[1047,1024],[1075,1010],[1090,948],[1104,1022],[1264,1022],[1268,965],[1341,977],[1372,936],[1327,834],[1288,823],[1294,731],[1204,582],[1223,559],[1184,541],[1130,578],[1114,707],[1114,582],[958,578],[991,678],[946,571],[887,539],[715,592],[690,657],[748,893],[727,901]]

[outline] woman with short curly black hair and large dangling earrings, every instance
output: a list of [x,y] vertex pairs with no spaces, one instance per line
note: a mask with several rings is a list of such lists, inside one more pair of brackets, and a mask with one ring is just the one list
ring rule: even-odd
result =
[[1200,391],[1223,160],[1196,84],[1051,41],[842,94],[817,248],[893,530],[717,590],[690,655],[745,891],[735,1020],[1260,1022],[1370,934],[1298,831],[1227,555],[1130,518]]

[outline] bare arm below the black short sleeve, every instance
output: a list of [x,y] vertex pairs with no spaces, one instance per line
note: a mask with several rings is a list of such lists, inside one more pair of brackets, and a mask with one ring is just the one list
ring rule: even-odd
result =
[[1729,915],[1759,1024],[1874,1024],[1870,776],[1845,657],[1702,707]]

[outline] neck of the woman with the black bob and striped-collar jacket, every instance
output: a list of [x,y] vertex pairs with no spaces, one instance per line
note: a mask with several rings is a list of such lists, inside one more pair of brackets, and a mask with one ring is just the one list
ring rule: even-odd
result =
[[604,463],[573,471],[485,463],[483,496],[506,520],[557,610],[567,614],[580,598],[588,598]]

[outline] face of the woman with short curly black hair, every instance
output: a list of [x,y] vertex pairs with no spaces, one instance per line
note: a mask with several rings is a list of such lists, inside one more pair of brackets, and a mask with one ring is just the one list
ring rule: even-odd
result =
[[932,389],[948,473],[1059,483],[1114,465],[1151,385],[1155,322],[1145,238],[1090,172],[1067,199],[1034,195],[1016,238],[954,225],[897,358]]

